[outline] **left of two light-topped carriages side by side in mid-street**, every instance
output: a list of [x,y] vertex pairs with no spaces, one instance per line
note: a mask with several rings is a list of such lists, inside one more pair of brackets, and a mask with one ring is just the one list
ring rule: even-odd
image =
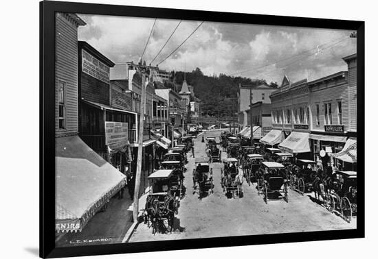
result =
[[210,169],[208,158],[195,158],[195,168],[193,169],[193,194],[198,190],[199,197],[203,193],[213,193],[214,182],[212,179],[212,169]]

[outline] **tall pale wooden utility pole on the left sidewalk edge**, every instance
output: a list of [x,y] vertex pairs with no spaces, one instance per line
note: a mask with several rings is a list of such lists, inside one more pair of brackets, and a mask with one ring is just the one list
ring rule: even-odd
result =
[[[147,82],[148,83],[148,82]],[[137,222],[139,212],[139,190],[140,178],[142,175],[142,149],[143,149],[143,127],[144,127],[144,103],[146,103],[146,67],[142,67],[142,97],[140,102],[140,123],[139,139],[137,153],[137,173],[135,175],[134,203],[133,203],[133,221]]]

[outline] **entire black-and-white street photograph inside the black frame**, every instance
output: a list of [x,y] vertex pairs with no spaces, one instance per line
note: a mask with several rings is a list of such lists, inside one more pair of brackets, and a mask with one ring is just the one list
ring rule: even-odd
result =
[[356,229],[358,36],[56,12],[56,247]]

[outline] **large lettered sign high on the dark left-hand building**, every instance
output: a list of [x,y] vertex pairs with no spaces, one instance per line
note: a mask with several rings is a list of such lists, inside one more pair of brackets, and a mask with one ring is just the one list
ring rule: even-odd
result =
[[89,54],[84,49],[82,49],[81,51],[82,51],[82,55],[81,55],[82,72],[90,75],[91,77],[99,79],[102,82],[109,84],[109,78],[110,78],[109,66],[102,63],[97,58],[91,56],[91,54]]

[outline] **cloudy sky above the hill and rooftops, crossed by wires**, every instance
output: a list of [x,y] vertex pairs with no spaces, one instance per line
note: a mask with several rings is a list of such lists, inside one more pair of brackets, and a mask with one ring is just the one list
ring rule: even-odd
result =
[[[86,40],[116,64],[140,60],[155,21],[155,18],[79,16],[87,23],[79,27],[79,40]],[[143,56],[147,64],[178,23],[157,19]],[[162,62],[200,23],[182,21],[153,65]],[[351,32],[205,22],[159,67],[168,71],[184,71],[184,67],[192,71],[199,67],[205,75],[224,73],[278,83],[285,74],[291,82],[312,80],[346,71],[342,57],[356,52],[356,38],[348,37]]]

